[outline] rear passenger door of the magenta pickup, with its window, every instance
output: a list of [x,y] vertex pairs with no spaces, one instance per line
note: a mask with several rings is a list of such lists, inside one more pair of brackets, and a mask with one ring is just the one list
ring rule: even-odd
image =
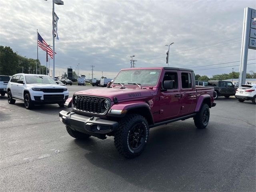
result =
[[181,71],[181,108],[180,114],[186,115],[194,112],[196,108],[196,86],[193,85],[192,72]]

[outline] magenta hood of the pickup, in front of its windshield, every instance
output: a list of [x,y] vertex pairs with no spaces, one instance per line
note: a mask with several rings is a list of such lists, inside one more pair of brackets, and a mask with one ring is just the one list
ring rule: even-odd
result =
[[99,96],[99,97],[107,97],[110,98],[111,101],[114,100],[114,97],[120,100],[132,99],[132,98],[140,98],[140,97],[148,97],[152,96],[150,90],[148,89],[131,89],[125,88],[96,88],[96,89],[88,89],[84,91],[78,91],[75,94],[89,95],[89,96]]

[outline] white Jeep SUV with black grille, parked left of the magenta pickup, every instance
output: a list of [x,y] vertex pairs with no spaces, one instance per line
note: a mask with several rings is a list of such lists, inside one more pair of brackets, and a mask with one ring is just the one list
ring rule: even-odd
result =
[[68,98],[68,89],[47,75],[20,73],[8,82],[7,96],[9,104],[20,100],[26,109],[33,108],[34,104],[59,104],[62,107]]

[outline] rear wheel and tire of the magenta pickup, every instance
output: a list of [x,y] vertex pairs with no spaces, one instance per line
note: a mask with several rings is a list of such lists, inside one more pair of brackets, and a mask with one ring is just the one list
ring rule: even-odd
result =
[[203,103],[199,112],[194,117],[195,126],[198,129],[204,129],[208,125],[210,119],[210,110],[209,106],[206,103]]

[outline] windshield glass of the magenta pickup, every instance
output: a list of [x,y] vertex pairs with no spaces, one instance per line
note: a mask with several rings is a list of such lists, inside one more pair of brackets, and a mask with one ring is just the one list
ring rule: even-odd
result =
[[155,86],[158,82],[160,72],[161,70],[159,69],[123,70],[116,76],[113,84]]

